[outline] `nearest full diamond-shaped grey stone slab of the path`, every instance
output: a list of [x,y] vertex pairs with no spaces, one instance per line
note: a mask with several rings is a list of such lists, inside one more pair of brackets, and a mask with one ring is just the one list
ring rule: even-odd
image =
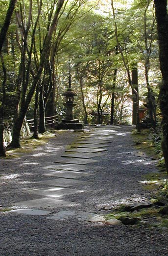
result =
[[18,202],[18,203],[15,203],[15,205],[20,207],[53,209],[56,207],[75,206],[77,205],[77,203],[55,199],[51,197],[44,197],[40,199],[33,199],[33,200]]

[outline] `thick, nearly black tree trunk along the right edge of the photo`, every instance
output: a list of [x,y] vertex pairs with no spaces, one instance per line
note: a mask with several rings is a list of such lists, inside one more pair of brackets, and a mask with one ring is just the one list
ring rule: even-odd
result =
[[168,8],[167,0],[154,0],[159,40],[159,59],[162,72],[160,108],[162,111],[162,149],[168,172]]

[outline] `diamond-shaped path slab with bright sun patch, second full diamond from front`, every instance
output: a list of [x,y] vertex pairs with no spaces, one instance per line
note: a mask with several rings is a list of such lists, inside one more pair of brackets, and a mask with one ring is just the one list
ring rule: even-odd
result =
[[61,197],[64,195],[74,194],[74,193],[81,193],[84,192],[83,190],[72,190],[72,189],[65,189],[61,187],[49,187],[49,188],[42,188],[36,190],[27,190],[24,191],[25,193],[30,194],[40,194],[49,197]]

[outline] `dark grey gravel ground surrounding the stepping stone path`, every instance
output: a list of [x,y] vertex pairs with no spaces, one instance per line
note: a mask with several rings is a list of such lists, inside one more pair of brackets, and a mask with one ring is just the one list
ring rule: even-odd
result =
[[[54,213],[79,210],[105,215],[111,212],[104,210],[105,206],[149,201],[150,192],[138,181],[143,180],[142,175],[157,171],[156,162],[134,149],[132,127],[112,128],[116,132],[108,151],[94,158],[99,162],[89,164],[87,172],[93,175],[79,178],[93,183],[71,187],[84,192],[61,199],[78,204],[53,208]],[[80,135],[72,131],[57,133],[31,153],[0,159],[0,205],[10,208],[15,202],[42,198],[25,190],[48,187],[35,182],[51,179],[43,174]],[[74,217],[47,220],[46,216],[6,211],[0,213],[0,256],[168,256],[168,231],[81,222]]]

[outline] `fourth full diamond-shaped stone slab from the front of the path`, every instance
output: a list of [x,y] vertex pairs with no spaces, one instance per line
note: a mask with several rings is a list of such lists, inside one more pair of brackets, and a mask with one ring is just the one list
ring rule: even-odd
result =
[[43,174],[45,176],[54,176],[67,179],[80,178],[85,176],[93,175],[92,173],[76,172],[76,171],[50,171],[49,173]]

